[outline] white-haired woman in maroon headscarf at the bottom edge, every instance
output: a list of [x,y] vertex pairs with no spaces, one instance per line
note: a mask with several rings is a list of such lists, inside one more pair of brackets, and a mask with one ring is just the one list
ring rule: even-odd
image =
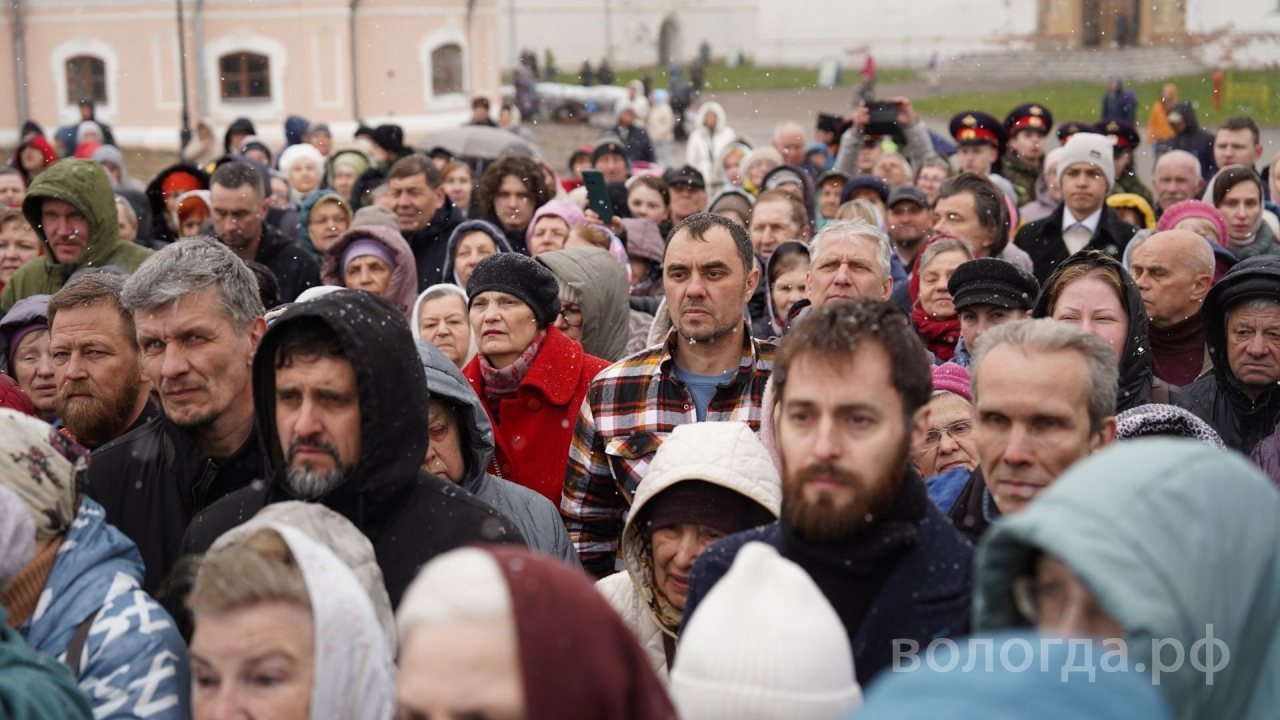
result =
[[440,555],[396,619],[404,717],[676,716],[617,614],[580,570],[545,555],[497,546]]

